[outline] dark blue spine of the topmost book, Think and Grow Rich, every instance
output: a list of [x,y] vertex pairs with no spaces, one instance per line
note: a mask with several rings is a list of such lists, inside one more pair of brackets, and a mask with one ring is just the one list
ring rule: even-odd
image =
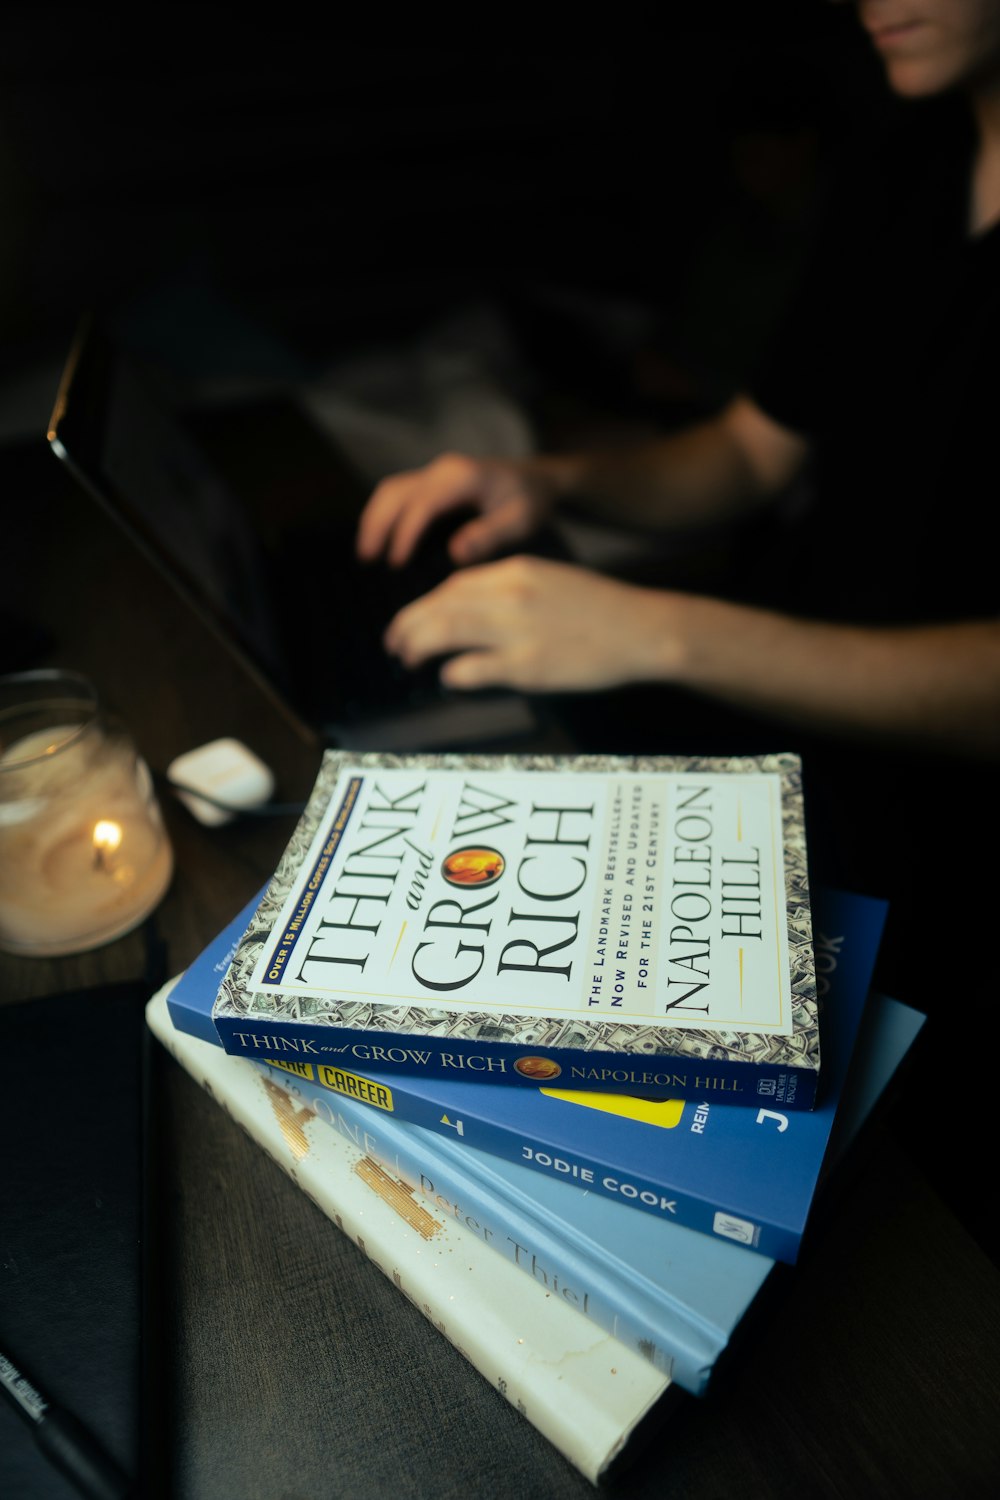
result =
[[[546,1077],[523,1077],[517,1064],[534,1056],[513,1042],[486,1044],[463,1036],[379,1032],[346,1026],[316,1026],[264,1016],[214,1016],[214,1026],[228,1053],[256,1060],[327,1062],[346,1068],[376,1068],[397,1077],[450,1078],[537,1089],[540,1083],[561,1089],[594,1089],[601,1094],[634,1094],[646,1100],[703,1100],[720,1104],[775,1104],[783,1110],[811,1110],[817,1074],[811,1068],[732,1062],[726,1058],[667,1058],[549,1048],[559,1070]],[[556,1082],[558,1078],[558,1082]]]

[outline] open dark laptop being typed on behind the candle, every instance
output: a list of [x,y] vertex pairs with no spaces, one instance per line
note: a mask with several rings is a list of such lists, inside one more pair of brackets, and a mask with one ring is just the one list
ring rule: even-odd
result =
[[[507,748],[538,738],[538,702],[450,693],[438,663],[411,672],[382,648],[396,610],[451,570],[447,536],[456,519],[430,534],[406,568],[360,562],[354,536],[369,486],[291,405],[282,422],[264,465],[274,468],[270,478],[261,483],[261,465],[255,471],[244,454],[243,483],[234,483],[199,438],[196,414],[171,410],[148,370],[90,322],[66,360],[48,441],[304,734],[390,752]],[[288,458],[289,470],[301,471],[298,446],[309,448],[304,498],[283,470]]]

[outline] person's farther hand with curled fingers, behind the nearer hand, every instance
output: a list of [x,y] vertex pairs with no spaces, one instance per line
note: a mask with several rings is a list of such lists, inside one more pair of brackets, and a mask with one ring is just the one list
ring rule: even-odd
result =
[[382,480],[358,522],[358,556],[385,556],[390,567],[402,567],[438,516],[475,506],[480,514],[459,526],[448,552],[454,562],[480,562],[529,537],[555,495],[555,477],[544,460],[516,464],[445,453],[426,468]]

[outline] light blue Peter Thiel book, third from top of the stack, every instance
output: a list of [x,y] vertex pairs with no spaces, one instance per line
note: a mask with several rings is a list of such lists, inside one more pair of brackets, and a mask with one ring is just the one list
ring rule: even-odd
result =
[[[922,1016],[883,996],[867,1006],[856,1078],[846,1092],[838,1149],[858,1132],[916,1036]],[[265,1062],[292,1107],[307,1086]],[[279,1082],[280,1080],[280,1082]],[[454,1216],[553,1298],[574,1306],[694,1395],[775,1262],[726,1239],[634,1214],[568,1182],[466,1149],[348,1098],[325,1119],[435,1210]]]

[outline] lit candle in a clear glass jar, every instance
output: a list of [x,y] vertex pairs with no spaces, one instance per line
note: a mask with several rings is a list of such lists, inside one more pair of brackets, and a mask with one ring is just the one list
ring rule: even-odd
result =
[[172,868],[148,768],[87,678],[0,678],[0,946],[111,942],[153,910]]

